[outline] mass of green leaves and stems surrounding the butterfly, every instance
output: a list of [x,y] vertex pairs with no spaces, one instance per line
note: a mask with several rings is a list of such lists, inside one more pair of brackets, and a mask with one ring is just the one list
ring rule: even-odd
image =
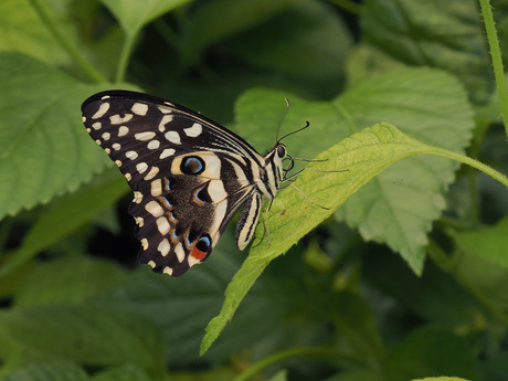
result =
[[[485,28],[473,0],[2,0],[0,380],[504,380],[508,8],[480,2]],[[316,161],[269,244],[131,268],[130,191],[80,115],[110,88],[260,152],[289,98]]]

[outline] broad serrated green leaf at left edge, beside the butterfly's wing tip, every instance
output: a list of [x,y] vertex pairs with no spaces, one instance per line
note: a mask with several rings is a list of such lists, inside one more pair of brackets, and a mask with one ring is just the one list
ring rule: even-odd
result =
[[0,53],[0,218],[76,190],[109,165],[81,121],[81,85],[18,53]]

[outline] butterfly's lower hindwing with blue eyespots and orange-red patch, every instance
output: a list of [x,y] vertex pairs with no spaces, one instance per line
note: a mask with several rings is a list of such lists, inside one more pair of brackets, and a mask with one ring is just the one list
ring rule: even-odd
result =
[[156,271],[180,275],[204,261],[252,192],[248,182],[220,178],[233,173],[226,165],[221,166],[220,173],[204,170],[192,176],[180,171],[182,162],[197,158],[202,160],[203,168],[220,161],[211,152],[174,157],[172,174],[144,182],[129,208],[138,223],[136,235],[142,245],[140,262]]

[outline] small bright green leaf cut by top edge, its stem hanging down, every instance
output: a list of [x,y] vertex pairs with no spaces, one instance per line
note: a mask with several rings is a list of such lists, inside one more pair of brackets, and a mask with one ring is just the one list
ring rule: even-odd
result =
[[190,0],[100,0],[128,35],[136,35],[142,27]]

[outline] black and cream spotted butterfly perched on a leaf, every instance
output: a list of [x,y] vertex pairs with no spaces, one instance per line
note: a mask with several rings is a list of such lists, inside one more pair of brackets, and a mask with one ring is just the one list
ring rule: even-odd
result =
[[179,276],[203,262],[242,205],[236,244],[244,250],[262,198],[273,200],[287,180],[281,139],[261,156],[226,128],[161,98],[109,91],[86,99],[82,113],[134,190],[139,261],[158,273]]

